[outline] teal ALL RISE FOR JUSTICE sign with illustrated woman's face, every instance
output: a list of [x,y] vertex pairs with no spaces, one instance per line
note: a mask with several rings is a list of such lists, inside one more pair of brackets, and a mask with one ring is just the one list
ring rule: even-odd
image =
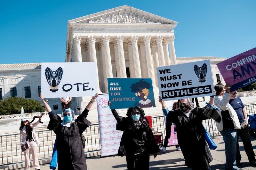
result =
[[111,109],[156,107],[151,78],[108,78]]

